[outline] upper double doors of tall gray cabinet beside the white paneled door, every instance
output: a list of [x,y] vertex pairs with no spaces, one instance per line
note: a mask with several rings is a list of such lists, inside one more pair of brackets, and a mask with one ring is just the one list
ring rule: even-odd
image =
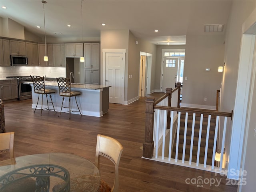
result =
[[100,44],[84,43],[84,67],[99,69],[100,68]]

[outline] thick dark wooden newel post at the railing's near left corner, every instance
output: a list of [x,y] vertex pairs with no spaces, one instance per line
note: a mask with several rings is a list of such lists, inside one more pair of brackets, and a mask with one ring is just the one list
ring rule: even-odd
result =
[[155,98],[146,99],[145,139],[143,143],[143,157],[152,158],[154,152],[154,102]]

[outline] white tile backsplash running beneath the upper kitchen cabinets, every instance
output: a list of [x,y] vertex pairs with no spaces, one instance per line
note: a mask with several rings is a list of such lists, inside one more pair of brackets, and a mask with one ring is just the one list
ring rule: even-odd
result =
[[64,67],[28,67],[28,66],[10,66],[0,67],[0,78],[7,76],[29,76],[38,75],[46,77],[66,77],[66,68]]

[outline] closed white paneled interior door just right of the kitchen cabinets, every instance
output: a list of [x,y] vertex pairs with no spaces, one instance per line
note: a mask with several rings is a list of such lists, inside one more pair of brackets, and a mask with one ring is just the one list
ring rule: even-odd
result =
[[105,53],[105,85],[109,88],[109,102],[122,104],[124,90],[123,53]]

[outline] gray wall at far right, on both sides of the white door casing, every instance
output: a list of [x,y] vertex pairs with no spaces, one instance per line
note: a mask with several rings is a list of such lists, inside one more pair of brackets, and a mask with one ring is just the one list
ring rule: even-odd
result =
[[[239,54],[242,38],[242,24],[251,14],[252,10],[256,8],[256,1],[233,1],[232,9],[230,13],[230,18],[228,21],[228,27],[226,31],[226,44],[225,44],[225,61],[226,66],[222,78],[222,95],[221,95],[221,110],[222,111],[231,111],[234,109],[235,94],[236,94],[236,84],[238,77],[238,63],[239,63]],[[255,191],[256,188],[256,156],[255,156],[255,138],[252,134],[253,129],[256,127],[255,122],[255,106],[256,106],[256,94],[255,94],[255,80],[254,80],[254,92],[253,92],[253,101],[252,101],[252,110],[251,119],[249,125],[249,134],[245,158],[244,170],[247,171],[246,178],[247,183],[244,186],[240,186],[243,192]],[[230,143],[231,138],[231,124],[228,122],[228,130],[226,132],[226,143]],[[229,146],[226,148],[226,160],[228,160]]]

